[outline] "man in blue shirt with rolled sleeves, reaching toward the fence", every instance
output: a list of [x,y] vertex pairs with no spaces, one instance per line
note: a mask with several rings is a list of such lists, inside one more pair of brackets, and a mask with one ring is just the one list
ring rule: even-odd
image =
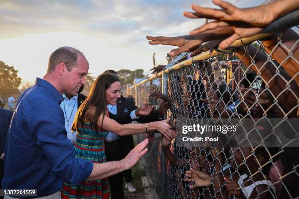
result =
[[88,69],[80,51],[61,47],[51,54],[43,79],[21,95],[7,134],[3,188],[37,189],[38,197],[59,198],[64,181],[78,185],[114,175],[146,152],[147,140],[121,161],[97,164],[75,158],[60,102],[63,93],[74,96],[86,84]]

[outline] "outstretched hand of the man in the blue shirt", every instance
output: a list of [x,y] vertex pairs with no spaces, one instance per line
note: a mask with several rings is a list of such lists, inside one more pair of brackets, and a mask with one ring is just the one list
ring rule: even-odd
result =
[[135,166],[138,160],[148,151],[148,149],[146,148],[148,142],[149,139],[145,139],[143,142],[135,146],[135,148],[133,148],[130,153],[128,153],[128,155],[121,160],[126,167],[125,170],[128,170]]

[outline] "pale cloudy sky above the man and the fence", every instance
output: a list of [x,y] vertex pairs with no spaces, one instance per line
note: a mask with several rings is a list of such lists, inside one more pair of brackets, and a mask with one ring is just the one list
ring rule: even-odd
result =
[[[228,0],[238,7],[264,0]],[[179,36],[204,23],[188,19],[191,4],[216,7],[211,0],[1,0],[0,60],[14,66],[22,85],[34,84],[61,46],[82,51],[97,77],[112,69],[143,69],[166,64],[171,46],[149,45],[146,35]]]

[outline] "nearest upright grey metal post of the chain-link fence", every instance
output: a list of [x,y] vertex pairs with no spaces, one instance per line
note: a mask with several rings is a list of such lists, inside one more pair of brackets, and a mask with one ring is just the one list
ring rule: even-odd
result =
[[[164,73],[162,76],[162,93],[164,95],[168,95],[168,87],[167,87],[167,80],[168,74]],[[164,115],[164,119],[166,119],[166,114]],[[161,139],[161,146],[162,146],[162,139]],[[161,147],[161,191],[160,191],[160,199],[165,198],[165,154],[164,148]]]

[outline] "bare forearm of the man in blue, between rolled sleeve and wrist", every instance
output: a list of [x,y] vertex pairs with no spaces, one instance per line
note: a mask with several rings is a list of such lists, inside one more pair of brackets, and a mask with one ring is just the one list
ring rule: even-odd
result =
[[93,163],[92,172],[87,180],[99,180],[120,173],[127,168],[122,161],[111,161],[106,163]]

